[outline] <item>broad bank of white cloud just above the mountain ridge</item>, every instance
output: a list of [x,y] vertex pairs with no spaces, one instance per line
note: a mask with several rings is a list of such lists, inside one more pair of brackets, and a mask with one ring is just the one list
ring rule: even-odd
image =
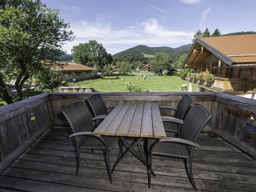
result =
[[73,42],[68,42],[63,48],[71,53],[73,46],[79,43],[88,43],[88,40],[96,40],[101,43],[106,51],[111,54],[124,51],[137,45],[149,47],[168,46],[176,48],[190,44],[194,32],[172,31],[160,26],[156,19],[150,19],[134,26],[115,29],[106,19],[96,22],[80,21],[71,24],[71,30],[76,35]]

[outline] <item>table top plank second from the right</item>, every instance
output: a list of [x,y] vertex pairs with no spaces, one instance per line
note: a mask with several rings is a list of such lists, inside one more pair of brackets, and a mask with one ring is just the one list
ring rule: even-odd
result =
[[140,137],[153,137],[151,103],[144,103]]

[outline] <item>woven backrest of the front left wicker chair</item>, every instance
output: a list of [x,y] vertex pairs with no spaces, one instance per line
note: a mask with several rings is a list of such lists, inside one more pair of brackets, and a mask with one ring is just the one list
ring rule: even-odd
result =
[[[63,115],[66,117],[72,132],[79,133],[84,131],[94,131],[92,118],[83,102],[75,102],[62,109]],[[76,137],[78,144],[84,137]]]

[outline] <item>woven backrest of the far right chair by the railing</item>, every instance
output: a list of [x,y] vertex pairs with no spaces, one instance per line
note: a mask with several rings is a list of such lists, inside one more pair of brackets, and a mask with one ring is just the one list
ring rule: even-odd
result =
[[192,103],[192,97],[188,94],[184,95],[178,104],[177,111],[175,113],[175,118],[184,120],[186,111],[188,110],[190,104]]

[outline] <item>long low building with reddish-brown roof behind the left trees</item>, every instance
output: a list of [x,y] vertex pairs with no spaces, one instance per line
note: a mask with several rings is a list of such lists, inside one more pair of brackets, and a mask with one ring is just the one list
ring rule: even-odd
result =
[[61,71],[62,81],[77,81],[81,79],[88,79],[94,77],[94,68],[78,64],[78,63],[68,63],[63,67],[54,67],[58,71]]

